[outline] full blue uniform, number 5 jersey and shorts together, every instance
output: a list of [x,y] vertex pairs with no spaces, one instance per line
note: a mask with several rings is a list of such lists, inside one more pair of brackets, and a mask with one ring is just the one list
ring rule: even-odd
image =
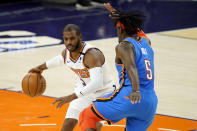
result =
[[123,64],[116,64],[120,88],[111,94],[98,98],[92,105],[93,112],[108,123],[116,123],[127,118],[128,131],[146,131],[153,122],[157,96],[154,91],[154,53],[145,38],[136,41],[126,38],[135,48],[135,63],[140,82],[141,102],[132,104],[125,99],[132,92],[132,84]]

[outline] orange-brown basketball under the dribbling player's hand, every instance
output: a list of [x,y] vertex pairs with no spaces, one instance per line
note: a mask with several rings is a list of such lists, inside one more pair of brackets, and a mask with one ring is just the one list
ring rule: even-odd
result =
[[46,80],[39,73],[28,73],[22,80],[22,90],[30,97],[38,97],[46,89]]

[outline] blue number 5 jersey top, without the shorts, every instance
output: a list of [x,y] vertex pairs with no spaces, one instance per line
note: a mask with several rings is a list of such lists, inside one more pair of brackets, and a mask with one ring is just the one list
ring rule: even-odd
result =
[[[126,38],[125,41],[133,44],[135,48],[135,63],[138,70],[140,90],[154,90],[154,52],[145,38],[136,41]],[[131,86],[126,69],[123,64],[116,64],[120,85]]]

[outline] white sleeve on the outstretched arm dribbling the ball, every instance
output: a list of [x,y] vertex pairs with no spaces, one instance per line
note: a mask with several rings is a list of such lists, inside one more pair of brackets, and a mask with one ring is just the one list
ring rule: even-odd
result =
[[64,64],[64,58],[62,55],[53,57],[52,59],[46,61],[47,68],[53,68]]

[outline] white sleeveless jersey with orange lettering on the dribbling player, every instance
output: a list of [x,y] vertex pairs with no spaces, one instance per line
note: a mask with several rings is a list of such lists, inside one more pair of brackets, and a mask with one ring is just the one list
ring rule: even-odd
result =
[[[89,49],[95,48],[90,44],[84,43],[81,48],[81,53],[77,60],[73,60],[70,57],[68,49],[65,51],[64,62],[76,73],[77,79],[75,84],[75,90],[78,88],[84,88],[90,82],[90,74],[88,68],[84,65],[84,55]],[[99,88],[98,92],[105,91],[106,89],[114,90],[114,81],[111,72],[108,69],[106,62],[102,66],[103,69],[103,87]],[[108,90],[109,91],[109,90]]]

